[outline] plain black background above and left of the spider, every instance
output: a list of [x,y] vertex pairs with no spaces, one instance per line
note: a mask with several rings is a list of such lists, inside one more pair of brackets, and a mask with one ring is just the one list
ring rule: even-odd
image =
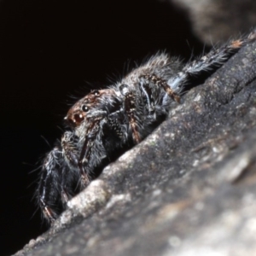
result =
[[36,169],[69,106],[125,74],[127,60],[159,49],[188,60],[203,45],[180,10],[156,0],[2,0],[0,20],[0,255],[9,255],[46,230],[32,200]]

